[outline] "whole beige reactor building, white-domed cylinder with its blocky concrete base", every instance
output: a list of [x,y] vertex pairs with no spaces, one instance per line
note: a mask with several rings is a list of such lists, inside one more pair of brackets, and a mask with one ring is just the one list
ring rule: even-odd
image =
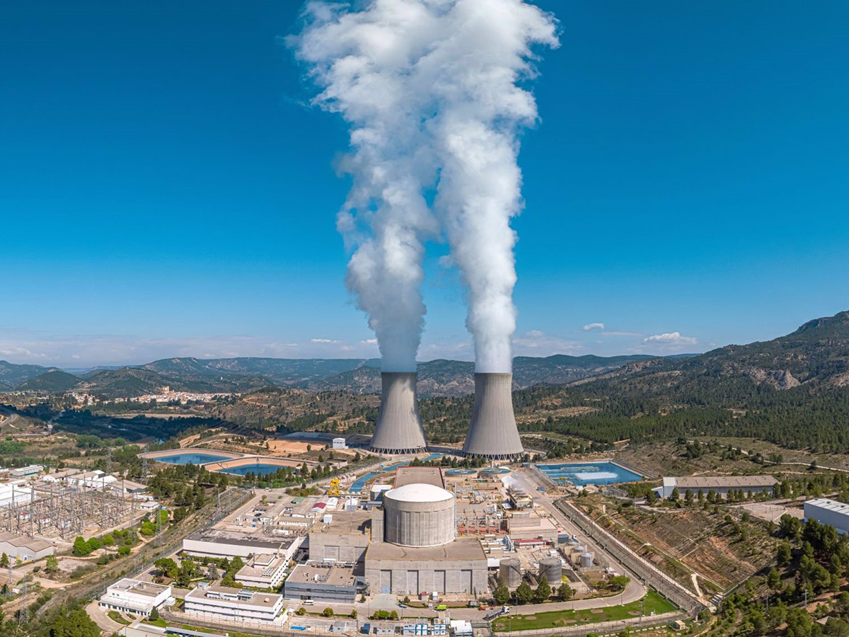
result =
[[456,499],[444,484],[438,468],[404,468],[383,507],[372,510],[365,577],[373,594],[486,590],[486,554],[477,539],[457,538]]

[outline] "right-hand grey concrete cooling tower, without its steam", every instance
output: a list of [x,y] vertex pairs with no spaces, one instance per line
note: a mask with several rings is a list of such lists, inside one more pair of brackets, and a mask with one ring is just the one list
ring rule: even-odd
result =
[[522,454],[512,389],[512,374],[475,374],[475,407],[463,443],[464,454],[494,460]]

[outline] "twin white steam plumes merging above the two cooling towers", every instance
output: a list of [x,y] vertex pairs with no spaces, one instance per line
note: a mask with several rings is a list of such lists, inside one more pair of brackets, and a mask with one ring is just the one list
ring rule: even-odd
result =
[[[480,372],[509,371],[520,212],[521,127],[537,120],[531,47],[558,45],[553,16],[524,0],[311,2],[299,59],[315,102],[351,127],[353,187],[338,227],[346,277],[385,371],[412,371],[424,327],[423,241],[439,226],[467,287]],[[428,200],[433,197],[433,211]]]

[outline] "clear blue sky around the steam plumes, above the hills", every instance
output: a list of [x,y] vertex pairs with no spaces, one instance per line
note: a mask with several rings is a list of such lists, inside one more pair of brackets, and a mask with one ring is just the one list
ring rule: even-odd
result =
[[[700,352],[849,308],[849,4],[538,4],[562,46],[520,155],[516,353]],[[4,9],[0,358],[376,355],[335,232],[346,131],[278,42],[299,10]],[[422,359],[472,355],[446,252]]]

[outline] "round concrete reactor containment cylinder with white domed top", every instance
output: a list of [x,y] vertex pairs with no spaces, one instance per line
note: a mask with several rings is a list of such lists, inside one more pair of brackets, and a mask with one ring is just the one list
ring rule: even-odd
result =
[[400,546],[439,546],[457,535],[454,495],[433,484],[405,484],[383,495],[384,538]]

